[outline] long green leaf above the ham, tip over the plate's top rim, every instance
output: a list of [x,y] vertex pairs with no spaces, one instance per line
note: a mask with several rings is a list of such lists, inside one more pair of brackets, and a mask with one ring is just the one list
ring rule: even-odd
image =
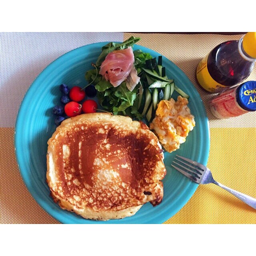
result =
[[98,57],[98,60],[96,61],[96,66],[99,67],[110,52],[113,52],[114,50],[121,50],[121,49],[128,48],[130,46],[133,46],[139,40],[140,40],[139,37],[134,38],[133,36],[131,36],[128,40],[122,42],[121,44],[114,43],[114,42],[106,44],[105,46],[102,47],[102,52],[101,52],[100,56]]

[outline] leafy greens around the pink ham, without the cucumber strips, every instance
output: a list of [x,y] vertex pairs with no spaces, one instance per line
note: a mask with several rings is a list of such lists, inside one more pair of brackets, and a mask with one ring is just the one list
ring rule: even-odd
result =
[[[128,48],[139,40],[140,38],[134,38],[132,36],[123,43],[110,42],[106,44],[102,47],[102,53],[98,57],[96,66],[94,65],[94,67],[99,67],[110,52]],[[142,120],[144,116],[138,111],[138,94],[140,87],[148,88],[149,86],[146,77],[147,73],[144,71],[144,68],[145,62],[151,59],[152,56],[149,53],[142,52],[142,50],[134,51],[134,66],[138,72],[138,76],[140,76],[140,84],[136,85],[132,92],[128,90],[126,82],[122,82],[119,86],[114,87],[109,81],[106,81],[96,69],[87,71],[85,78],[89,83],[93,82],[95,85],[100,106],[107,111],[112,112],[114,115],[121,114],[136,118],[137,120]]]

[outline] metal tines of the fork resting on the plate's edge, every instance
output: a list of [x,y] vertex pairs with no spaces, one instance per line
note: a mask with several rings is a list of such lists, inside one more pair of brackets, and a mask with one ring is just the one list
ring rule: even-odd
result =
[[[202,177],[205,166],[203,166],[202,164],[199,164],[198,162],[192,161],[188,158],[185,158],[183,156],[178,156],[178,155],[176,155],[174,160],[178,161],[179,163],[173,161],[172,163],[176,165],[174,166],[173,164],[171,164],[173,168],[175,168],[176,170],[178,170],[179,172],[181,172],[182,174],[184,174],[186,177],[190,178],[194,182],[200,183],[200,178]],[[178,166],[180,166],[182,169],[179,168]]]

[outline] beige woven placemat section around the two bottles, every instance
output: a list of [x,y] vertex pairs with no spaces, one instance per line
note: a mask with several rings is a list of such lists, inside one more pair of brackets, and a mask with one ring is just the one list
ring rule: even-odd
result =
[[[195,78],[196,67],[206,54],[218,44],[228,40],[239,40],[242,35],[124,33],[124,40],[132,35],[141,38],[138,44],[166,56],[188,76],[204,102],[210,120],[210,127],[256,127],[256,122],[253,122],[256,118],[255,112],[250,112],[237,118],[216,119],[208,108],[208,100],[212,98],[212,94],[205,92],[198,86]],[[256,68],[254,68],[247,80],[256,80]]]

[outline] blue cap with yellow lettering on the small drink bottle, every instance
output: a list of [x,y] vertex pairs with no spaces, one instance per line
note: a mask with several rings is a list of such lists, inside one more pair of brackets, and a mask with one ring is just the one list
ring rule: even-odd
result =
[[256,111],[256,81],[248,81],[238,86],[236,100],[244,110]]

